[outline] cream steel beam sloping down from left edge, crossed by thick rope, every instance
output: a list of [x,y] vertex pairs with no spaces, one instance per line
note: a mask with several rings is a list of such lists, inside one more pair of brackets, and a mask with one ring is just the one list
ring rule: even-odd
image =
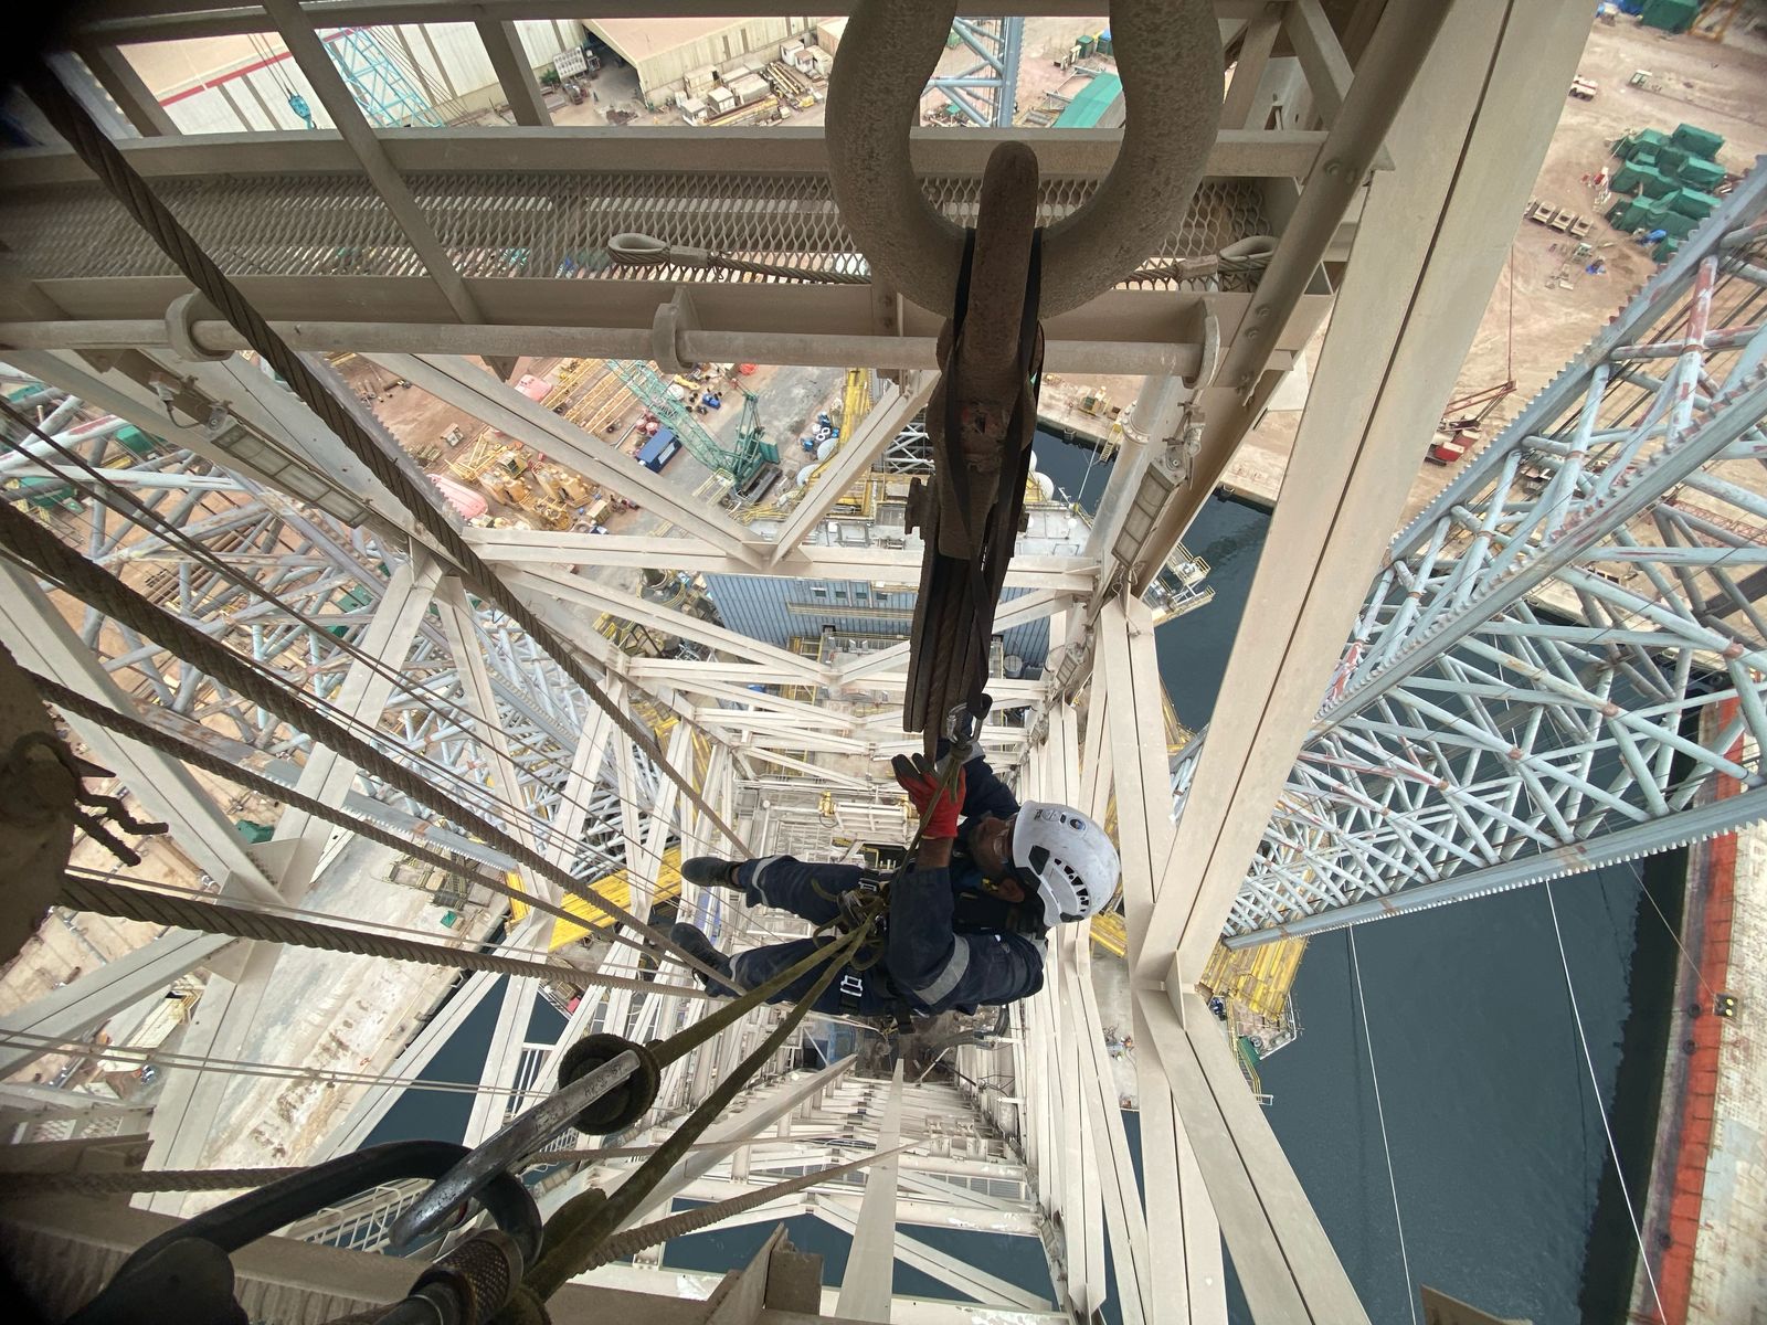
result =
[[[11,565],[0,565],[0,638],[19,666],[102,700],[120,714],[136,712],[35,578]],[[171,827],[171,839],[200,869],[231,880],[254,901],[276,901],[269,874],[251,859],[239,829],[182,763],[83,717],[69,714],[67,724],[92,751],[94,763],[115,772],[152,818]]]

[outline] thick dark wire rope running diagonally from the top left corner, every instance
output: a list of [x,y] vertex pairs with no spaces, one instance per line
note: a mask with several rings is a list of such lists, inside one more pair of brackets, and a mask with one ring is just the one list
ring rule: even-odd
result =
[[263,357],[263,360],[283,378],[290,390],[299,396],[318,419],[330,428],[368,470],[398,498],[398,502],[415,518],[435,546],[445,553],[458,567],[466,583],[482,597],[497,604],[564,668],[603,712],[643,749],[671,783],[710,820],[746,855],[747,846],[742,836],[724,823],[710,804],[707,804],[691,779],[680,774],[648,731],[641,730],[629,716],[618,710],[611,696],[578,662],[569,645],[550,625],[546,625],[514,592],[497,576],[472,546],[454,528],[451,518],[436,505],[435,493],[422,491],[417,482],[389,456],[357,420],[350,406],[337,399],[307,367],[306,360],[283,341],[283,337],[258,314],[240,290],[196,244],[191,233],[178,223],[159,196],[147,186],[136,170],[124,159],[122,152],[97,127],[83,106],[67,92],[48,65],[34,65],[19,72],[18,81],[25,87],[32,101],[55,129],[69,141],[81,161],[111,191],[118,203],[134,217],[161,251],[184,272],[184,276],[214,304],[240,336]]

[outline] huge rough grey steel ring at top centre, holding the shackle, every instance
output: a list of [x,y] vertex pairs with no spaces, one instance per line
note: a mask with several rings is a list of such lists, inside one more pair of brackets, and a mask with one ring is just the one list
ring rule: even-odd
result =
[[[921,189],[908,154],[926,80],[958,0],[861,0],[829,80],[834,201],[873,276],[949,316],[963,228]],[[1124,281],[1184,219],[1221,124],[1221,30],[1209,0],[1113,0],[1126,122],[1097,193],[1048,228],[1043,307],[1053,318]]]

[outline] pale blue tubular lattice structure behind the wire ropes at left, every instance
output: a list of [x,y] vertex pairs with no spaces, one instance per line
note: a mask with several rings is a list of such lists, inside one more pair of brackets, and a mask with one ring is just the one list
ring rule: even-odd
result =
[[[110,429],[92,433],[92,440],[69,450],[97,468],[113,443]],[[39,459],[25,472],[92,486],[76,463],[60,458]],[[383,544],[371,528],[350,528],[191,450],[168,449],[129,468],[111,465],[102,475],[117,509],[87,500],[80,516],[55,512],[65,541],[117,572],[150,567],[143,592],[168,611],[307,689],[315,700],[337,700],[362,636],[387,599],[389,581],[406,562],[405,553]],[[148,525],[147,516],[131,511],[129,498],[157,519]],[[541,820],[555,820],[592,705],[502,613],[475,604],[474,615],[498,726],[518,768],[521,804]],[[94,608],[85,608],[78,632],[155,726],[262,765],[272,779],[293,784],[299,767],[292,756],[311,747],[306,733]],[[403,657],[380,662],[399,675],[399,684],[366,735],[403,761],[447,777],[461,799],[502,816],[498,795],[482,786],[489,760],[474,731],[461,662],[435,615],[426,615]],[[636,760],[641,786],[650,786],[654,772],[641,751]],[[610,859],[618,859],[611,767],[585,795],[583,867],[601,873]],[[428,811],[391,788],[376,786],[375,799],[406,829],[428,818]]]

